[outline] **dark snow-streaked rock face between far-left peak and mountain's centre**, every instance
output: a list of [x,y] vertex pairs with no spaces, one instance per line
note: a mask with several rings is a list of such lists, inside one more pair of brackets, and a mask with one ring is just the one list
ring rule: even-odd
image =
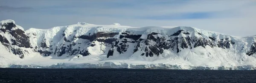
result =
[[[89,35],[81,35],[79,37],[73,37],[73,38],[81,38],[81,39],[87,39],[90,42],[84,42],[87,43],[88,47],[95,46],[96,44],[94,41],[99,41],[99,42],[104,42],[104,43],[112,43],[116,41],[116,38],[109,38],[109,37],[114,37],[119,33],[116,32],[97,32],[94,34],[89,34]],[[73,40],[68,39],[65,37],[66,34],[64,34],[64,31],[62,32],[62,37],[64,38],[64,43],[60,43],[60,45],[56,46],[55,49],[53,49],[52,46],[47,46],[46,42],[47,40],[43,38],[40,48],[45,48],[44,50],[38,49],[38,52],[43,54],[44,56],[49,56],[50,54],[55,54],[58,57],[62,56],[63,54],[68,54],[68,55],[75,55],[75,54],[81,54],[83,56],[90,55],[87,49],[81,50],[80,47],[79,49],[73,48],[76,44],[81,44],[81,43],[75,43],[72,42]],[[99,38],[99,37],[105,37],[105,38]],[[103,43],[103,44],[104,44]],[[52,50],[52,51],[51,51]],[[105,51],[104,51],[105,52]]]

